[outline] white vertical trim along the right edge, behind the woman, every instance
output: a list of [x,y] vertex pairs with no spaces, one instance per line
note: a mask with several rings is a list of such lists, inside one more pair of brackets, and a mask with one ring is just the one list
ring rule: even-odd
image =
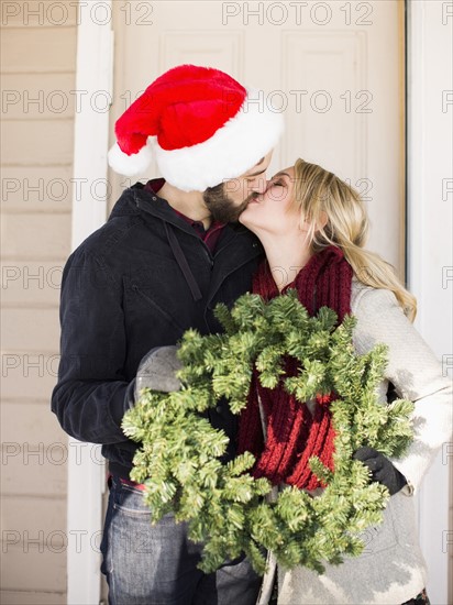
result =
[[[417,328],[444,372],[451,373],[453,2],[408,0],[407,7],[409,287],[419,304]],[[419,498],[428,590],[431,603],[439,605],[448,603],[448,563],[453,550],[453,528],[449,528],[452,453],[452,443],[445,443]]]

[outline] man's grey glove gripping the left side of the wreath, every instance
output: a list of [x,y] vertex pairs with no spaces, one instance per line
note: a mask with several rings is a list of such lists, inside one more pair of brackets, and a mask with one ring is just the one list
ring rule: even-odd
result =
[[181,383],[175,373],[181,369],[181,362],[176,356],[178,348],[157,346],[152,349],[142,359],[136,372],[136,377],[129,385],[126,392],[128,407],[133,407],[142,388],[172,393],[179,391]]

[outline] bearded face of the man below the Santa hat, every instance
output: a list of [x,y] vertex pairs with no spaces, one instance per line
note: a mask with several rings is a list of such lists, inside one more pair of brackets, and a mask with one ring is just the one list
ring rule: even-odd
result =
[[237,221],[248,202],[267,187],[266,170],[270,163],[272,152],[262,157],[250,170],[225,180],[203,193],[203,200],[214,220],[221,222]]

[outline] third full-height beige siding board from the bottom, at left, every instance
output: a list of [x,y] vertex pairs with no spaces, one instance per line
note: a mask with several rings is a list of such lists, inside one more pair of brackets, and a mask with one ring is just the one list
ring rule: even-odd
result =
[[[55,496],[66,495],[68,448],[63,439],[48,448],[43,442],[10,440],[8,446],[3,443],[1,454],[0,485],[3,494],[43,496],[49,506]],[[27,585],[38,587],[31,582]]]

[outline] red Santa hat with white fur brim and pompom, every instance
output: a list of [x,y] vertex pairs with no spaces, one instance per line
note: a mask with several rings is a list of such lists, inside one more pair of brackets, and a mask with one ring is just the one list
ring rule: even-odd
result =
[[154,157],[178,189],[203,191],[252,168],[277,143],[283,117],[228,74],[180,65],[151,84],[115,124],[110,166],[133,176]]

